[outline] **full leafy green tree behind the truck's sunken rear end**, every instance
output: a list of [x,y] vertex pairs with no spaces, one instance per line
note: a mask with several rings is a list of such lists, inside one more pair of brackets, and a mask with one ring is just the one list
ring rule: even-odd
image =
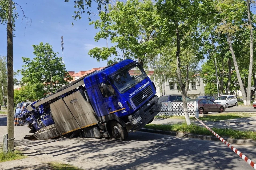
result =
[[[25,92],[30,91],[27,99],[41,99],[46,94],[52,93],[65,84],[66,80],[71,80],[70,75],[65,71],[65,65],[62,59],[53,52],[52,46],[41,42],[39,45],[33,45],[34,60],[22,57],[23,65],[19,70],[23,76],[21,84],[26,87]],[[29,90],[28,90],[29,89]]]

